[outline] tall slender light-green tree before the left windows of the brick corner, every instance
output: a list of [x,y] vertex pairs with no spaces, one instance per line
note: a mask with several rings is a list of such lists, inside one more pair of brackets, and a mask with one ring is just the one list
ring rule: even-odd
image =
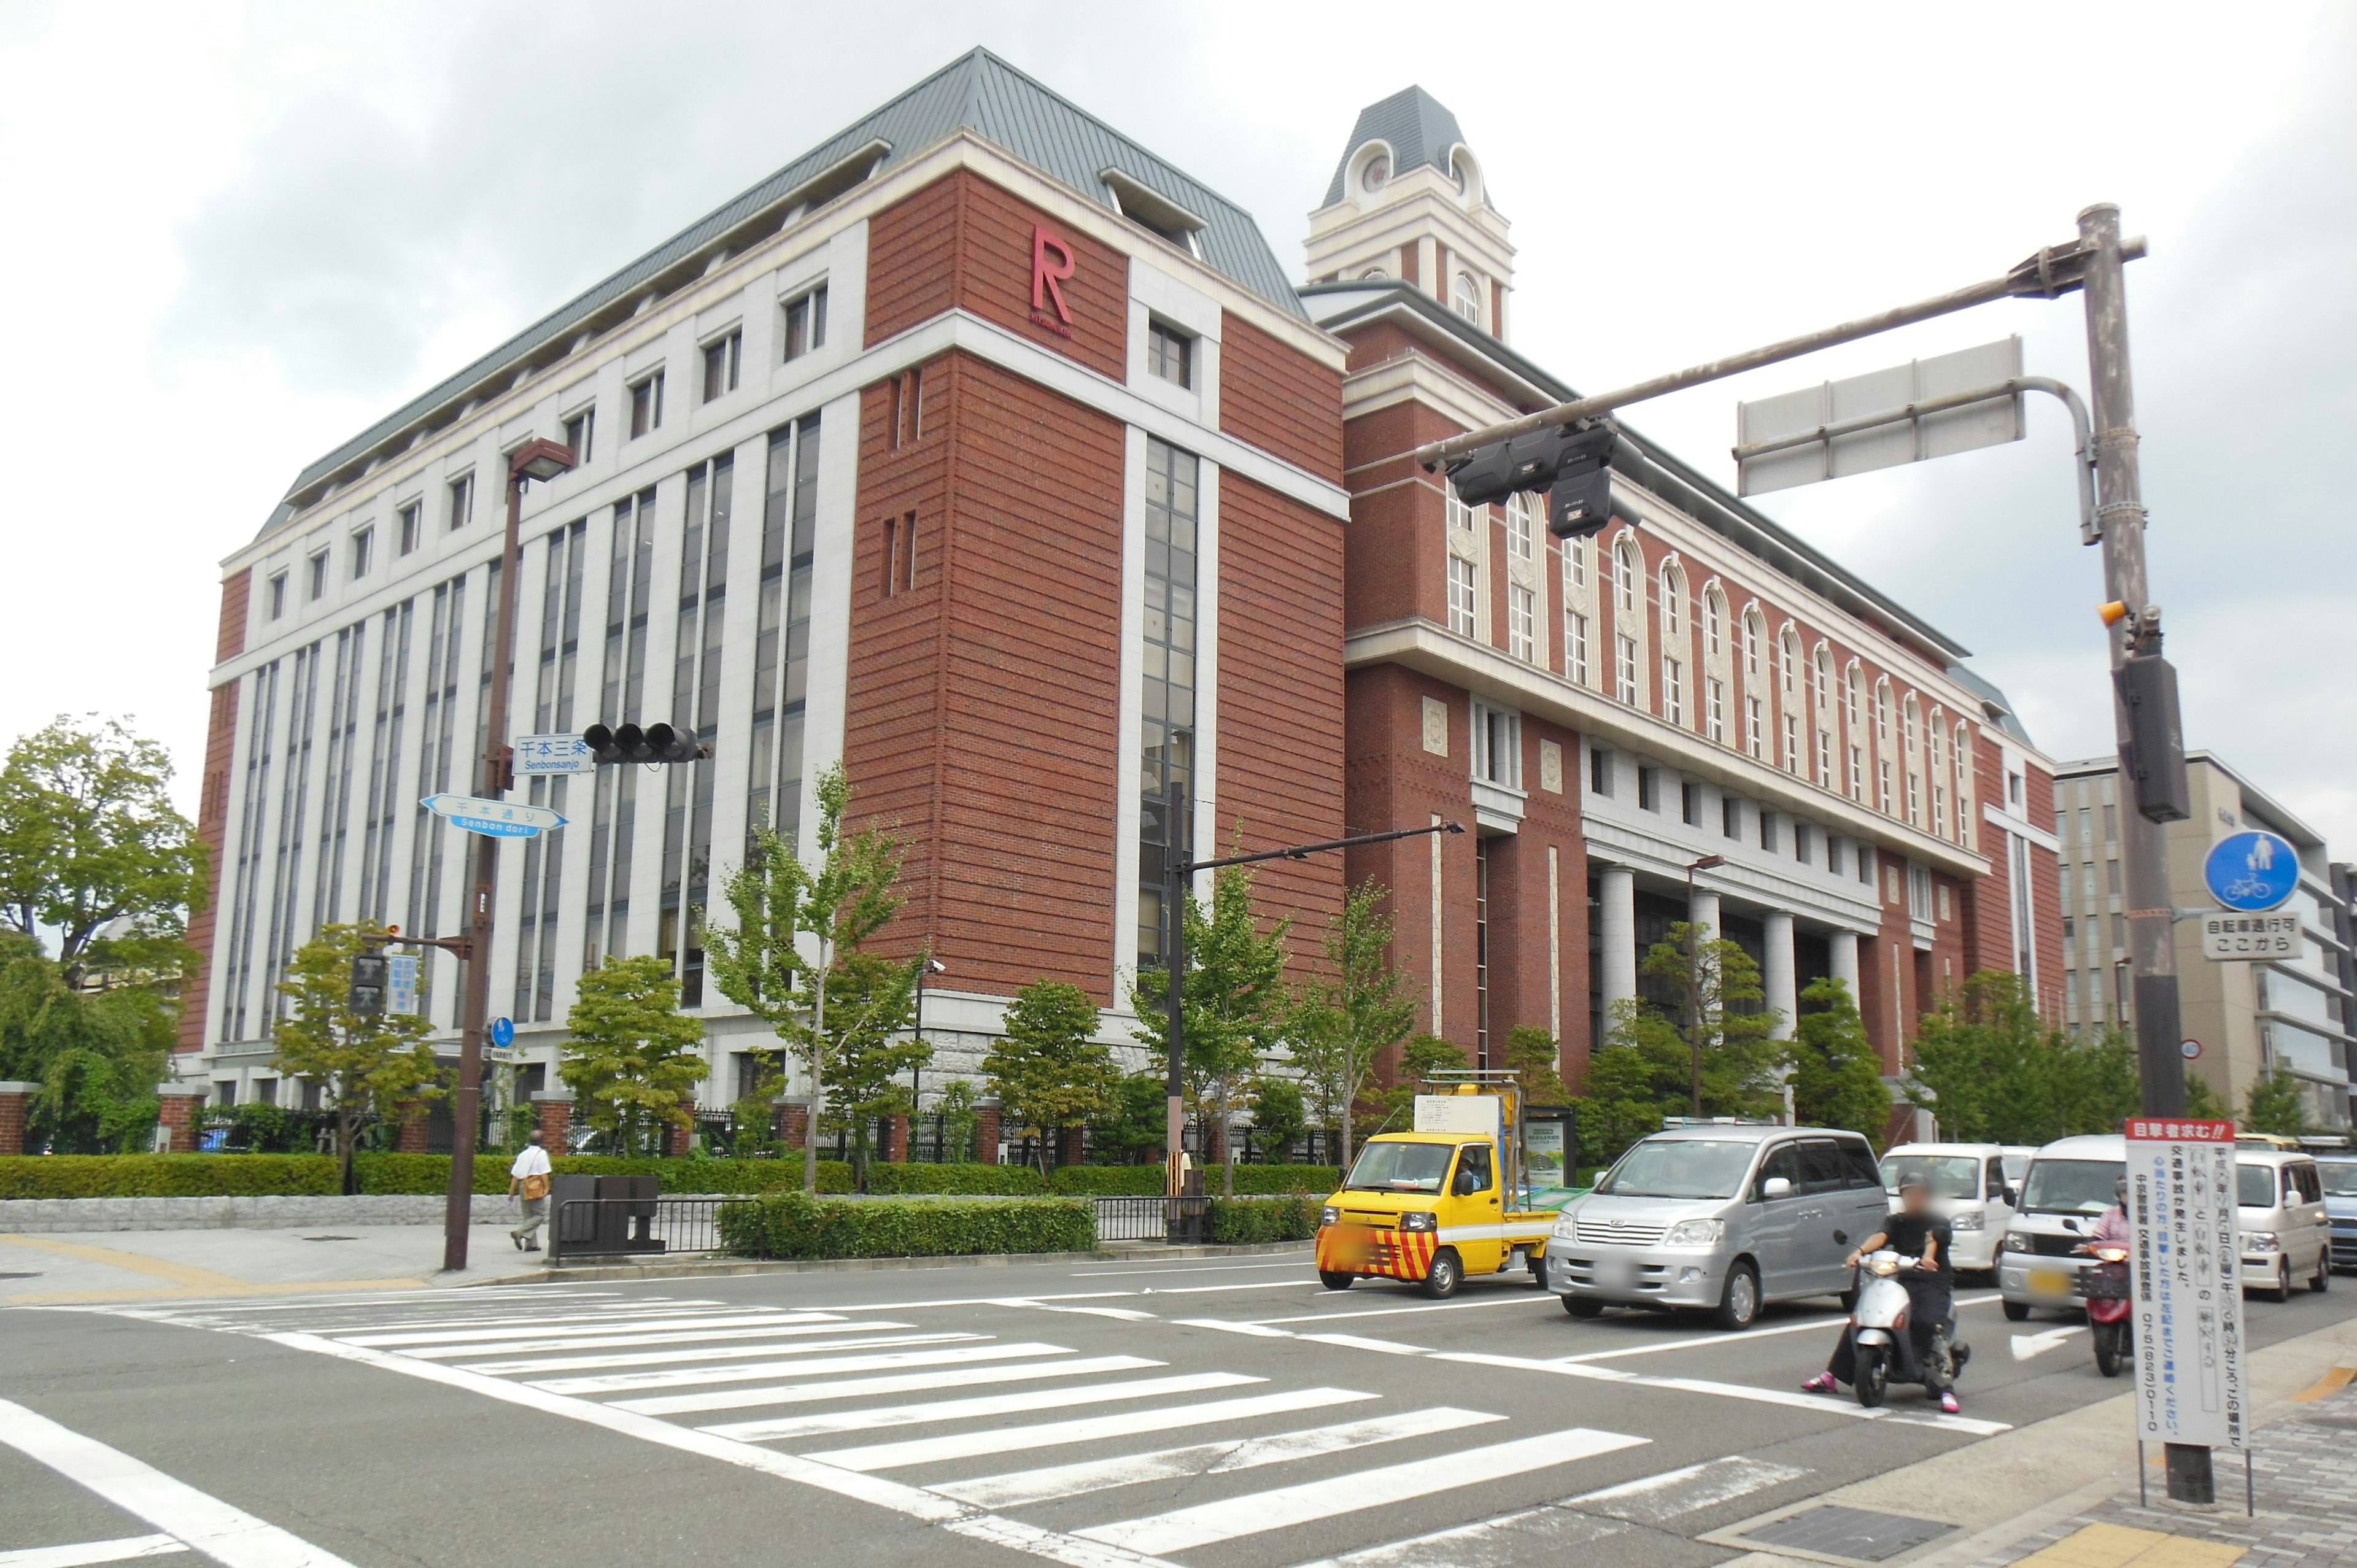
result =
[[726,882],[735,927],[705,929],[705,962],[719,993],[766,1021],[778,1033],[778,1049],[792,1052],[811,1080],[813,1137],[801,1148],[806,1193],[818,1191],[816,1132],[827,1118],[830,1075],[846,1054],[907,1028],[907,1000],[924,964],[922,953],[900,964],[905,983],[860,967],[849,976],[858,1007],[837,1009],[830,1019],[830,983],[900,913],[905,851],[879,830],[844,832],[851,785],[841,764],[818,776],[811,799],[818,806],[818,870],[806,868],[775,832],[754,828],[745,863]]

